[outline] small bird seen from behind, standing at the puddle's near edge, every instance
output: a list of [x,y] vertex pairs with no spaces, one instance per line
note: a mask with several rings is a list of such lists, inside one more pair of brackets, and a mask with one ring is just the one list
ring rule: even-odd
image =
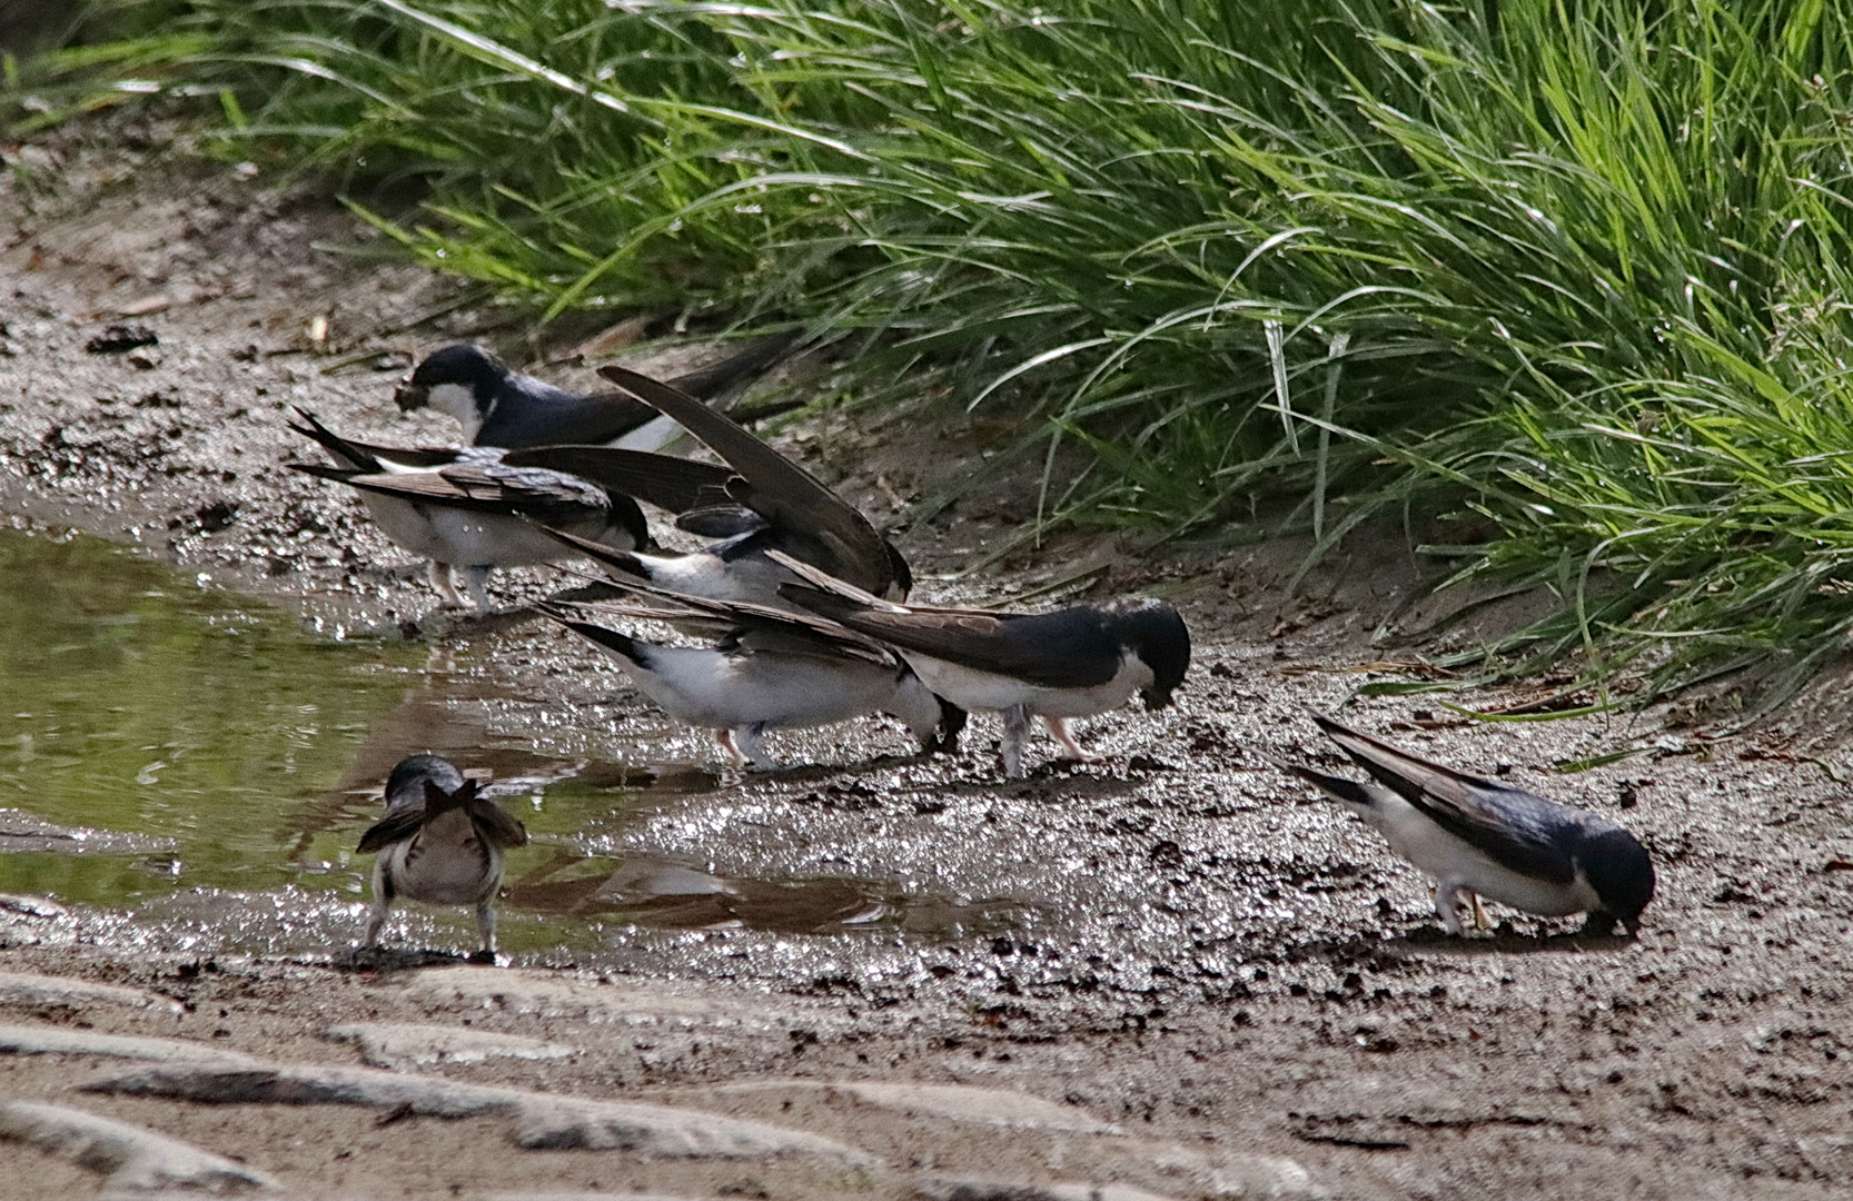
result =
[[380,942],[393,901],[471,904],[482,949],[495,960],[495,893],[502,888],[502,851],[528,841],[528,830],[435,754],[402,758],[385,780],[385,819],[359,838],[372,862],[372,912],[363,947]]

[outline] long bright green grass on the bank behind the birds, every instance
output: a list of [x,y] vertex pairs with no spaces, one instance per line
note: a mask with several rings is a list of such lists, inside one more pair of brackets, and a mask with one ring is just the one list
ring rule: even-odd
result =
[[1853,4],[170,13],[158,78],[419,176],[387,226],[434,265],[548,317],[856,335],[871,391],[932,369],[1091,449],[1058,513],[1188,530],[1286,487],[1330,545],[1458,499],[1495,530],[1464,573],[1562,593],[1536,651],[1660,688],[1794,680],[1853,625]]

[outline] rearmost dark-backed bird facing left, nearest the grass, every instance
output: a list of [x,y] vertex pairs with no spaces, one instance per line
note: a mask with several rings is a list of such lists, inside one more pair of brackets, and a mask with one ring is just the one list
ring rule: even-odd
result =
[[[702,400],[769,367],[789,337],[769,337],[713,367],[676,376],[674,386]],[[654,408],[621,393],[578,395],[523,374],[474,343],[434,350],[393,393],[400,411],[432,408],[456,417],[476,447],[617,445],[656,450],[676,428]]]

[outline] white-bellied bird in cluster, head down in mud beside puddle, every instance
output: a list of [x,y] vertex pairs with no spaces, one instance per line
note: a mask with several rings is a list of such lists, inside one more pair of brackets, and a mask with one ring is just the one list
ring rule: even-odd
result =
[[956,745],[964,714],[921,684],[897,654],[836,623],[771,606],[676,597],[637,588],[660,608],[621,615],[667,621],[721,638],[713,647],[663,647],[587,621],[561,604],[537,606],[617,660],[645,697],[676,721],[715,732],[734,762],[778,767],[767,730],[832,725],[865,714],[906,723],[923,752]]

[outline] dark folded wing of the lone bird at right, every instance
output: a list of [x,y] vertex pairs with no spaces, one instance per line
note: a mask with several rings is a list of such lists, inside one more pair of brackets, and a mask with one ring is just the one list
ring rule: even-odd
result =
[[1582,825],[1584,815],[1577,810],[1418,758],[1323,714],[1312,719],[1379,784],[1486,858],[1553,884],[1575,879],[1575,864],[1560,836],[1566,825]]

